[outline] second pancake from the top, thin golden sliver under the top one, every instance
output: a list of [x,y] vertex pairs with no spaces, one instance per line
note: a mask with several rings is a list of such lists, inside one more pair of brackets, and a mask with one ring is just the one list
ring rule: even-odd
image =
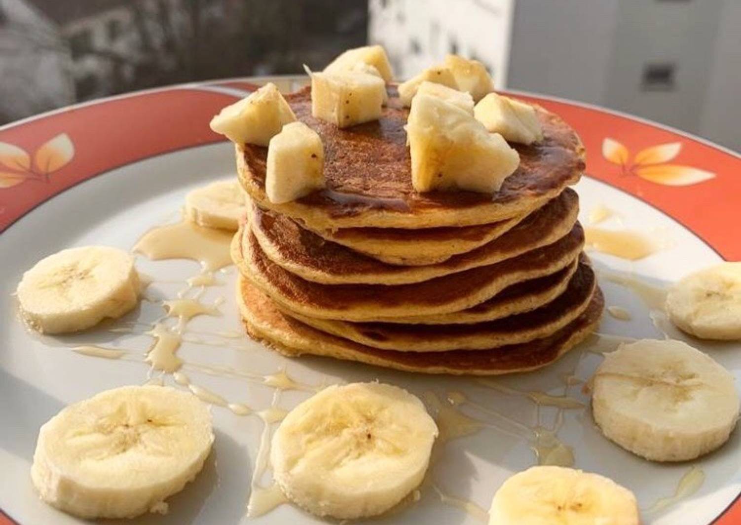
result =
[[[490,224],[413,231],[406,228],[341,228],[313,232],[384,263],[423,266],[442,263],[453,255],[475,250],[505,234],[525,217],[528,214]],[[302,226],[308,227],[305,224]],[[413,237],[413,242],[410,242],[410,237]]]

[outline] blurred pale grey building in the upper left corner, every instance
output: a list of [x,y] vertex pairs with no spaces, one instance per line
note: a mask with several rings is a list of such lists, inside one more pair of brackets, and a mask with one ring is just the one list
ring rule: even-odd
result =
[[50,19],[27,1],[0,0],[0,122],[71,104],[71,67]]

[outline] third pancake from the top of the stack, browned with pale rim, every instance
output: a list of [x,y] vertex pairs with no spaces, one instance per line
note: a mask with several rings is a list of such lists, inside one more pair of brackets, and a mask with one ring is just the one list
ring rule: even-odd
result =
[[[568,234],[579,214],[579,197],[568,189],[530,214],[502,237],[476,250],[428,266],[382,263],[345,246],[329,242],[274,211],[250,206],[250,227],[265,255],[285,270],[314,283],[420,283],[435,277],[492,265],[549,245]],[[408,230],[414,244],[414,231]]]

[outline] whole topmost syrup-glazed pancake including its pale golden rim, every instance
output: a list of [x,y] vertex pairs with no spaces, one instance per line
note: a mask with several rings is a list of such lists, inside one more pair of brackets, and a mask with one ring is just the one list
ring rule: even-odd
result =
[[488,224],[537,208],[579,180],[584,147],[559,116],[536,107],[544,138],[533,145],[511,144],[519,168],[495,194],[473,191],[418,193],[411,184],[411,162],[402,108],[391,88],[379,120],[351,128],[311,116],[310,87],[285,96],[296,118],[322,137],[327,187],[292,202],[275,204],[265,194],[268,148],[236,145],[242,188],[262,208],[301,219],[313,230],[378,227],[436,228]]

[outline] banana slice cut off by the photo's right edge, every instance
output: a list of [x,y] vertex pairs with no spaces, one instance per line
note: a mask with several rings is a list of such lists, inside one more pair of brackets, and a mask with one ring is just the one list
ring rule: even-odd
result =
[[741,339],[741,263],[696,271],[669,289],[671,321],[702,339]]

